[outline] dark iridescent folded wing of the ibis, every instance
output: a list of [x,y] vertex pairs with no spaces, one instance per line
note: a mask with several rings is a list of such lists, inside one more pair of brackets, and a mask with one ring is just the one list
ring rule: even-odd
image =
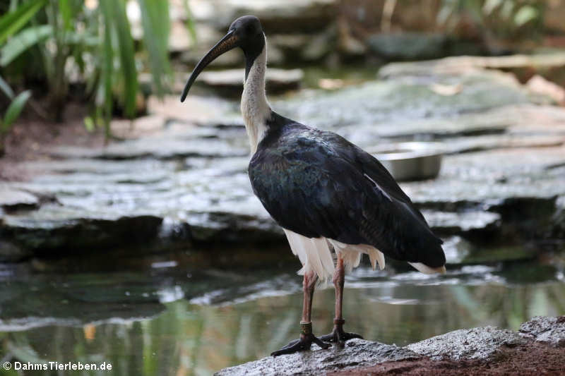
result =
[[320,131],[273,146],[256,152],[249,177],[280,226],[307,237],[374,245],[396,260],[444,265],[441,240],[370,154]]

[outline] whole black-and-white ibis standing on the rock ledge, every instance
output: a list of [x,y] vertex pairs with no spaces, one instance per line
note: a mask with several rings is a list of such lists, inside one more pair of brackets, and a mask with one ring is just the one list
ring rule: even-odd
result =
[[[409,262],[420,272],[445,272],[443,242],[371,154],[340,135],[305,126],[270,108],[265,92],[267,42],[258,18],[234,20],[227,35],[192,71],[181,102],[211,61],[237,47],[245,56],[241,109],[251,145],[251,187],[283,227],[304,275],[299,339],[271,355],[309,350],[311,344],[343,346],[348,339],[362,338],[343,329],[345,271],[357,267],[367,254],[373,269],[383,269],[386,255]],[[315,336],[314,288],[330,277],[335,286],[333,331]]]

